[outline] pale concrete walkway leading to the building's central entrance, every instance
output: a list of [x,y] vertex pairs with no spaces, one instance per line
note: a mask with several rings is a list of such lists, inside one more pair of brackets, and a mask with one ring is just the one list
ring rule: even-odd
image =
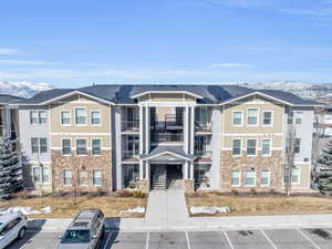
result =
[[184,191],[180,189],[151,191],[145,224],[147,227],[166,229],[189,226],[190,219]]

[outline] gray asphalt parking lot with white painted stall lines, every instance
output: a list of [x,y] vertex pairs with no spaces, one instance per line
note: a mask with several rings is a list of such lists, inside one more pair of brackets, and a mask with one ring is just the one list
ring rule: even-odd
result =
[[[55,249],[60,234],[27,232],[8,249]],[[106,231],[98,249],[331,249],[331,229]]]

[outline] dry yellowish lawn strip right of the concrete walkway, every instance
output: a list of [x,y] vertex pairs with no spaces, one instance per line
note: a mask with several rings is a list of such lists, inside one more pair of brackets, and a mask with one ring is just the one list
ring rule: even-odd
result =
[[[332,198],[282,195],[221,195],[218,193],[196,193],[187,195],[187,206],[229,207],[229,214],[212,216],[246,215],[304,215],[332,212]],[[195,216],[208,216],[199,215]]]

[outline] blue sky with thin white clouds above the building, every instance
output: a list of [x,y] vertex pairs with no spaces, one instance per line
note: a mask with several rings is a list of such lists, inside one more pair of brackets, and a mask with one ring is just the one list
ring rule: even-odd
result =
[[332,0],[8,0],[0,80],[332,82]]

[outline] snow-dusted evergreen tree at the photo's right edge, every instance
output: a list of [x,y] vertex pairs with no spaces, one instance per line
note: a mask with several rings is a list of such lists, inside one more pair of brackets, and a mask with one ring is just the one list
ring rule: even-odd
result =
[[318,186],[322,193],[332,191],[332,141],[323,148],[318,159],[320,172],[318,174]]

